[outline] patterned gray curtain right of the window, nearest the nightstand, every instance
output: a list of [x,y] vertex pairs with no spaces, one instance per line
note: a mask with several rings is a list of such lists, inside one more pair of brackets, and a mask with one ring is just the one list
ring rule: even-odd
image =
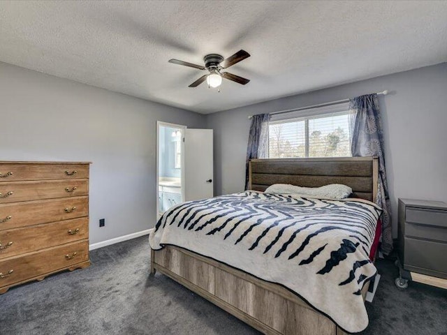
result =
[[379,187],[375,201],[383,209],[381,216],[381,251],[388,255],[393,250],[393,234],[391,228],[390,195],[388,194],[383,152],[382,120],[377,94],[350,99],[349,109],[353,111],[350,120],[352,156],[379,157]]

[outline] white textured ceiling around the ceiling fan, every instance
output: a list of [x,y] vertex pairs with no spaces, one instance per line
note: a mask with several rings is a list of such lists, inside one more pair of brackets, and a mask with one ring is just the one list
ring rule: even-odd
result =
[[[202,113],[441,63],[446,40],[447,1],[0,2],[0,61]],[[251,82],[220,93],[168,63],[240,49]]]

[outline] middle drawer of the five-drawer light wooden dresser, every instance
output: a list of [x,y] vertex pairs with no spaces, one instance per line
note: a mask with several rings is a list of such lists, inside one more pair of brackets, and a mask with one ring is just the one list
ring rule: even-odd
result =
[[88,215],[88,196],[0,204],[0,230]]

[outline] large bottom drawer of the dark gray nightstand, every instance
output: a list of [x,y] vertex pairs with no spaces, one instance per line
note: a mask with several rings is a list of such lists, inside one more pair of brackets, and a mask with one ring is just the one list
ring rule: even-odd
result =
[[406,265],[447,273],[447,244],[405,237]]

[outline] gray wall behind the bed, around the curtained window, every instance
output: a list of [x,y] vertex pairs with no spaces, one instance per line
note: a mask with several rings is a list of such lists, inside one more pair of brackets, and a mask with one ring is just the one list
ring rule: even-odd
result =
[[249,115],[384,89],[391,91],[380,96],[379,103],[396,234],[397,198],[447,202],[447,63],[207,115],[207,128],[214,129],[215,193],[244,187]]

